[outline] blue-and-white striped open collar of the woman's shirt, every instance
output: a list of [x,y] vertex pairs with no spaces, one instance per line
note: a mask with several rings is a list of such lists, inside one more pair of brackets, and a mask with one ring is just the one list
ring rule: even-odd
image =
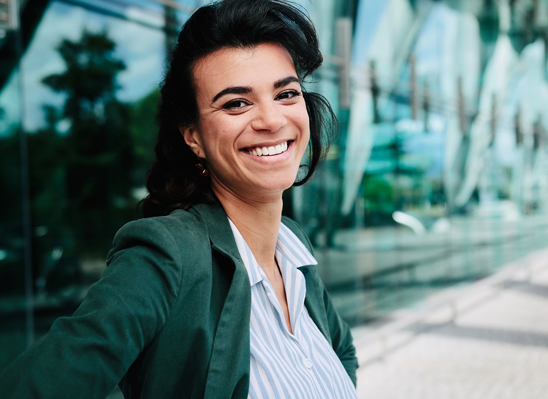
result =
[[[229,218],[230,227],[234,234],[238,251],[242,256],[244,265],[246,266],[249,281],[254,285],[262,280],[259,263],[255,260],[249,246],[243,239],[242,234],[238,231],[235,224]],[[289,265],[295,268],[306,265],[317,265],[318,261],[312,256],[310,251],[302,243],[301,240],[293,233],[285,224],[279,224],[278,241],[276,243],[276,255],[284,257]]]

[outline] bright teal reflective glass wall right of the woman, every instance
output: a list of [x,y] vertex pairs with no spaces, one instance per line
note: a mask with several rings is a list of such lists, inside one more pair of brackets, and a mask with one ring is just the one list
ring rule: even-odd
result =
[[548,2],[328,3],[315,87],[340,134],[293,200],[344,318],[390,319],[545,247]]

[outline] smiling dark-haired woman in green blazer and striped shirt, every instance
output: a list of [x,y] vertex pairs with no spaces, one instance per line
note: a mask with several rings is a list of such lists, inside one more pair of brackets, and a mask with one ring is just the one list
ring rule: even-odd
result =
[[162,87],[145,218],[117,233],[75,314],[0,375],[3,398],[101,398],[118,383],[127,398],[356,397],[349,328],[281,216],[334,122],[301,88],[321,62],[310,20],[281,0],[191,16]]

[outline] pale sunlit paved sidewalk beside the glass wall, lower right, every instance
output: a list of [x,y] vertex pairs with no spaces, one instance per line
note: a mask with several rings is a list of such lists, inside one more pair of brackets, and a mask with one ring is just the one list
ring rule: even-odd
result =
[[359,398],[548,398],[548,269],[516,273],[454,322],[432,314],[399,334],[413,338],[384,360],[358,347]]

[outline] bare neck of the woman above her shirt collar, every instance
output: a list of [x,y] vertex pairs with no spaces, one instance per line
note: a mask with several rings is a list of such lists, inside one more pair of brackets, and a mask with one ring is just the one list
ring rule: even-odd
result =
[[276,266],[275,252],[279,224],[282,220],[282,195],[264,200],[242,200],[235,195],[214,190],[223,209],[246,240],[255,260],[267,273]]

